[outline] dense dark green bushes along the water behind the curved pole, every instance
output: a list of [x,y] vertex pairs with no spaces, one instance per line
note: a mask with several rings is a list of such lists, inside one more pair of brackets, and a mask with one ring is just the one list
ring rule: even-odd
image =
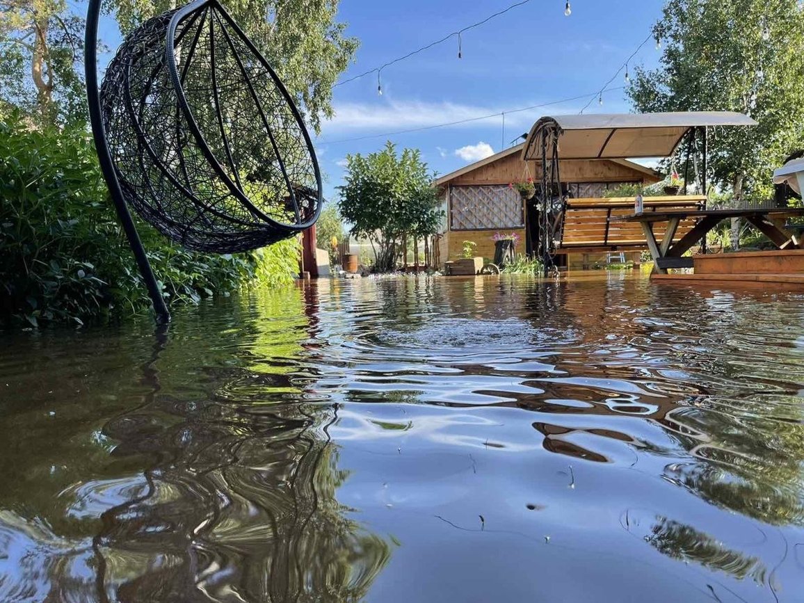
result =
[[[297,240],[244,254],[188,252],[137,220],[163,295],[228,294],[292,281]],[[97,165],[86,125],[33,129],[0,121],[0,322],[81,324],[150,306]]]

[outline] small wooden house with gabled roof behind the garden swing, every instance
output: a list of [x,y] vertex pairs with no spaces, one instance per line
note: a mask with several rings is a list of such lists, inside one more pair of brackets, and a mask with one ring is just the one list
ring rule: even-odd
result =
[[[519,193],[511,188],[532,178],[539,183],[541,163],[523,160],[525,143],[512,146],[482,161],[455,170],[438,178],[436,183],[446,204],[446,226],[439,243],[439,263],[461,256],[464,241],[473,241],[476,254],[487,260],[494,257],[496,232],[516,232],[520,243],[517,252],[532,253],[532,241],[538,225],[534,224],[537,212],[527,211]],[[564,195],[570,199],[601,198],[605,191],[622,184],[658,183],[662,174],[626,159],[567,159],[560,160]],[[633,201],[631,202],[633,207]],[[529,224],[530,223],[530,224]],[[567,224],[565,228],[572,228]],[[571,232],[565,236],[572,237]],[[638,257],[642,248],[630,247],[586,248],[565,250],[562,264],[569,269],[604,265],[607,261],[628,260]],[[621,255],[622,254],[622,255]]]

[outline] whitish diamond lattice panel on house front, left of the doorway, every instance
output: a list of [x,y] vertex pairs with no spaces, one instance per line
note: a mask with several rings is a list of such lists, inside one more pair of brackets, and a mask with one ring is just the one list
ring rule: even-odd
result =
[[522,198],[507,184],[450,187],[452,230],[522,228]]

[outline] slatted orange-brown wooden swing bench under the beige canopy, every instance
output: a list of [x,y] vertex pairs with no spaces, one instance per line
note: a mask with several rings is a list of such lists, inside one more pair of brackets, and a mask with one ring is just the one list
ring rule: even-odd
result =
[[[675,197],[645,197],[645,212],[690,210],[703,207],[703,195]],[[645,233],[639,224],[612,221],[611,218],[634,213],[633,197],[613,199],[568,199],[564,213],[564,228],[561,240],[556,244],[557,253],[607,252],[619,249],[647,248]],[[695,219],[683,219],[673,237],[681,239],[695,227]],[[667,222],[653,225],[654,236],[664,237]]]

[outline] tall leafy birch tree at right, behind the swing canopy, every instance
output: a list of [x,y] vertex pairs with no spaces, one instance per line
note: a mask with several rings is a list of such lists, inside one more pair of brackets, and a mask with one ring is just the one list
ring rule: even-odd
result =
[[759,123],[709,137],[709,180],[737,198],[769,198],[773,168],[804,146],[804,11],[772,4],[668,0],[654,26],[661,65],[636,69],[628,87],[638,111],[732,110]]

